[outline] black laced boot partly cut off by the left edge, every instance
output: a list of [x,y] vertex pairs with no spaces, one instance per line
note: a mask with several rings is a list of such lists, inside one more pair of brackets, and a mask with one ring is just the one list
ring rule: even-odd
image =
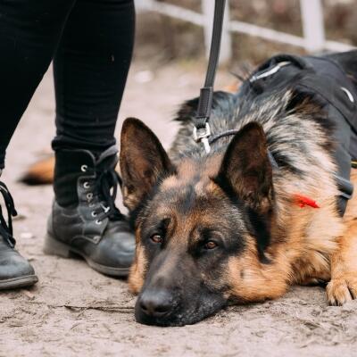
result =
[[0,182],[0,192],[4,197],[8,214],[6,223],[0,207],[0,290],[34,285],[38,281],[35,270],[14,249],[16,241],[12,237],[12,216],[16,216],[17,213],[12,195],[3,182]]

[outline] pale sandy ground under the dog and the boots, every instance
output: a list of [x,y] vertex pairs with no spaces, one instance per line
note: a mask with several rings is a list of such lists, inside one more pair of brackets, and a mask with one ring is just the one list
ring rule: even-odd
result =
[[[220,74],[217,87],[229,80]],[[136,62],[120,122],[127,116],[145,120],[167,147],[175,133],[170,118],[202,81],[197,65],[150,69]],[[30,289],[0,293],[0,356],[357,355],[357,302],[329,307],[319,287],[295,287],[278,301],[230,307],[194,326],[137,324],[135,297],[125,281],[104,277],[83,261],[42,253],[52,187],[25,187],[16,180],[50,151],[53,134],[54,94],[47,74],[13,137],[3,178],[20,212],[18,248],[40,280]]]

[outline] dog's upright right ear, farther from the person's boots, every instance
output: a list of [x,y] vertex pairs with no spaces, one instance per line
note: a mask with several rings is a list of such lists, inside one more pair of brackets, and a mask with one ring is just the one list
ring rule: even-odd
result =
[[262,126],[246,124],[228,145],[215,179],[253,209],[266,212],[272,198],[272,169]]

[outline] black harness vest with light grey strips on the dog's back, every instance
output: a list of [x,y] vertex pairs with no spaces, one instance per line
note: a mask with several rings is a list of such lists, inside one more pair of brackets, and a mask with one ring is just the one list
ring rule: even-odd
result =
[[357,157],[357,93],[345,71],[327,57],[280,54],[263,63],[249,82],[258,85],[262,92],[269,92],[279,83],[295,79],[299,73],[304,75],[295,83],[295,88],[318,95],[320,102],[325,104],[328,120],[334,123],[338,167],[335,177],[340,191],[337,203],[343,216],[353,195],[349,179],[351,162]]

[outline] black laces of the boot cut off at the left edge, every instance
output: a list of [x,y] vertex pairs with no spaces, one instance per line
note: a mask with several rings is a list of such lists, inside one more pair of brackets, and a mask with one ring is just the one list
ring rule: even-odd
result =
[[0,236],[2,236],[10,247],[14,247],[16,240],[12,237],[12,217],[17,216],[15,204],[13,203],[12,195],[6,185],[0,181],[0,192],[3,195],[4,203],[7,211],[7,223],[4,219],[3,209],[0,205]]

